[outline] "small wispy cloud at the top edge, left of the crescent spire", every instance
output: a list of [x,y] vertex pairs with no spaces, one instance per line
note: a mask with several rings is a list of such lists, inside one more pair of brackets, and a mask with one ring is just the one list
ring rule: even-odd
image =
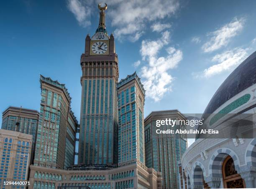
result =
[[80,26],[91,25],[91,9],[89,7],[82,5],[79,0],[68,0],[67,7],[74,14]]

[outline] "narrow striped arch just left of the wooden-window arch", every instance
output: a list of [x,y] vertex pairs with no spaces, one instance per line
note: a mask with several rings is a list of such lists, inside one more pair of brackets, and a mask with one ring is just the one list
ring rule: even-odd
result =
[[205,175],[205,167],[199,162],[196,161],[192,168],[193,171],[193,186],[196,189],[201,189],[204,187],[204,177]]

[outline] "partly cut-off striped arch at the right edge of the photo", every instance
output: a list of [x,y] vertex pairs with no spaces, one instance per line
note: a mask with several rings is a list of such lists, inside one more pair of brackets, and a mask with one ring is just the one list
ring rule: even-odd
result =
[[256,139],[252,139],[247,146],[245,160],[248,167],[256,167]]

